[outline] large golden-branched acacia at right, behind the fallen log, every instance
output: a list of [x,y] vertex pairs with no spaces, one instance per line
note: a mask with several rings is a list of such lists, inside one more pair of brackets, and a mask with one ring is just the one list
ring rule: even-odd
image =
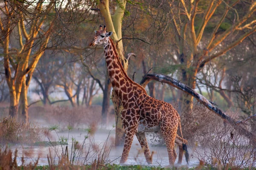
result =
[[[178,0],[169,6],[171,26],[176,36],[175,51],[181,64],[181,81],[193,89],[196,88],[198,72],[207,63],[236,47],[256,31],[253,17],[255,1],[247,5],[239,0]],[[210,33],[206,31],[209,23],[214,23]],[[230,37],[232,41],[227,43]],[[192,96],[181,94],[179,105],[190,110],[192,100]]]

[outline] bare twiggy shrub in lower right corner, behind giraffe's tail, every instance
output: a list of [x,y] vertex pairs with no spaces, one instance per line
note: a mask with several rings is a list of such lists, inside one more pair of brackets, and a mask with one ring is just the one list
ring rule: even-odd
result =
[[[250,130],[250,127],[247,129]],[[231,169],[256,167],[256,144],[239,134],[232,125],[222,120],[212,121],[205,131],[210,133],[197,135],[197,144],[193,149],[193,156],[198,160]]]

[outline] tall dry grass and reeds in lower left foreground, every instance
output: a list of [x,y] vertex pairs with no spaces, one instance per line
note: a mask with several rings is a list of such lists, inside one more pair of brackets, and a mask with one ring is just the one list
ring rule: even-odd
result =
[[[58,132],[57,126],[50,127],[49,130],[55,131],[55,133]],[[70,130],[67,136],[67,141],[64,143],[61,143],[61,150],[59,150],[59,146],[56,146],[55,144],[52,144],[49,147],[49,154],[47,154],[48,159],[48,166],[41,167],[41,169],[80,169],[80,170],[99,170],[99,169],[106,169],[105,167],[111,163],[108,160],[109,153],[111,151],[111,148],[113,147],[114,139],[109,138],[110,132],[108,135],[108,138],[105,140],[103,144],[98,144],[94,141],[94,133],[96,131],[96,125],[92,124],[89,128],[87,128],[87,134],[84,136],[84,140],[79,143],[76,141],[75,138],[72,137],[71,141],[71,147],[68,145],[69,136],[70,136]],[[66,139],[62,139],[62,137],[59,137],[59,141],[63,141]],[[50,143],[54,143],[51,142]],[[56,143],[56,142],[55,142]],[[4,150],[0,149],[0,170],[14,170],[14,169],[23,169],[23,170],[34,170],[38,169],[38,161],[39,156],[36,161],[32,161],[29,164],[25,163],[25,159],[28,156],[28,154],[22,156],[21,158],[17,157],[18,151],[15,150],[15,153],[13,155],[12,151],[5,147]],[[17,159],[21,159],[21,164],[18,166]]]

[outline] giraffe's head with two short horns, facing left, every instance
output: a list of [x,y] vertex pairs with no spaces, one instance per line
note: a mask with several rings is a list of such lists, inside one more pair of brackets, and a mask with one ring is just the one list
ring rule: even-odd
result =
[[106,26],[104,26],[103,29],[102,26],[99,26],[99,30],[95,30],[95,36],[94,39],[90,42],[90,46],[106,44],[112,34],[113,32],[106,31]]

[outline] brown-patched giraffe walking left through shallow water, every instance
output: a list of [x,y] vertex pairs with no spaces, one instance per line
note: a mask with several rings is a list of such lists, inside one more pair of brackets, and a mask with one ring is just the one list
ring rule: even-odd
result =
[[[186,161],[188,163],[187,141],[182,136],[179,114],[171,104],[148,96],[141,85],[133,82],[127,76],[116,53],[116,47],[110,38],[112,34],[113,32],[106,31],[106,26],[103,29],[102,26],[99,26],[99,30],[95,31],[94,39],[90,42],[90,46],[103,44],[113,91],[123,106],[121,119],[125,128],[125,144],[120,163],[125,163],[127,160],[134,135],[136,135],[143,148],[146,161],[148,164],[152,164],[145,132],[157,131],[160,131],[166,142],[169,164],[174,165],[175,159],[177,158],[174,147],[175,142],[185,150]],[[178,126],[181,137],[177,135]]]

